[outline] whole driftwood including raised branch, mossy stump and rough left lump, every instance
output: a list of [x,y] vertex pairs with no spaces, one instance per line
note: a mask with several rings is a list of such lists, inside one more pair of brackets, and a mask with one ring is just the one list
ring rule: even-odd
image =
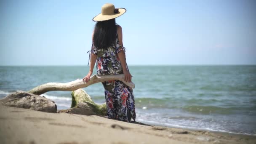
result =
[[109,81],[120,80],[131,88],[135,88],[133,82],[125,82],[124,74],[120,75],[93,75],[90,80],[85,83],[82,79],[77,79],[69,83],[45,83],[39,85],[28,92],[19,91],[12,93],[0,102],[6,106],[21,107],[27,109],[33,109],[43,112],[56,112],[57,107],[54,101],[46,99],[40,94],[48,91],[72,91],[72,104],[70,109],[60,110],[59,112],[70,112],[80,115],[106,115],[106,104],[96,104],[92,101],[91,96],[88,95],[82,88],[89,85]]

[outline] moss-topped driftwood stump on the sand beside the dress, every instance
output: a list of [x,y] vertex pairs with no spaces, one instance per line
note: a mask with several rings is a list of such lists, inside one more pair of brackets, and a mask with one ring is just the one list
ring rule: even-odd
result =
[[78,115],[107,115],[106,104],[96,104],[82,88],[72,91],[72,104],[70,109],[60,110]]

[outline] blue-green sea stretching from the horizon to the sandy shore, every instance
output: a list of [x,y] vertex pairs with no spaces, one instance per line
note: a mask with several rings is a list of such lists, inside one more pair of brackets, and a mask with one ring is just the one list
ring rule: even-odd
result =
[[[49,82],[82,79],[88,66],[0,66],[0,99]],[[129,66],[136,121],[174,128],[256,135],[256,66]],[[96,68],[94,68],[96,74]],[[103,104],[104,88],[83,88]],[[71,106],[70,91],[41,96],[57,109]]]

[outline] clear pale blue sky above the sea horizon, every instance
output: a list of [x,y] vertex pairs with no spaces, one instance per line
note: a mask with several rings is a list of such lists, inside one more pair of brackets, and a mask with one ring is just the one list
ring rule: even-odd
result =
[[104,3],[128,65],[256,64],[255,0],[0,0],[0,65],[87,66]]

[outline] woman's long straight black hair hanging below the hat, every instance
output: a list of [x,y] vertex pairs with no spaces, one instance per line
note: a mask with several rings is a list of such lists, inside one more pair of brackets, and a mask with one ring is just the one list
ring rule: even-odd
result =
[[116,40],[117,26],[115,19],[97,21],[94,27],[94,46],[98,49],[105,49],[113,45]]

